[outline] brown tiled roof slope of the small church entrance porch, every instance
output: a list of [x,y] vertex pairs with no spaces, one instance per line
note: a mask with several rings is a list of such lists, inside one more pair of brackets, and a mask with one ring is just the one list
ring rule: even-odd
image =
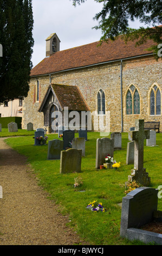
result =
[[65,86],[62,84],[51,84],[54,93],[62,107],[68,107],[73,111],[89,111],[87,103],[77,86]]

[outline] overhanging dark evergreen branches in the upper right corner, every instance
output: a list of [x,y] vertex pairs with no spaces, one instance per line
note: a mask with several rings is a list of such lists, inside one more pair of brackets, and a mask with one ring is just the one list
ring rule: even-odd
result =
[[[84,3],[86,0],[73,0],[73,5]],[[162,1],[159,0],[94,0],[103,2],[102,10],[95,15],[99,23],[95,29],[101,29],[100,41],[115,40],[119,35],[127,42],[136,40],[136,45],[144,44],[148,39],[154,41],[154,45],[148,50],[153,50],[158,58],[159,48],[162,43]],[[128,27],[129,20],[138,19],[149,26],[132,29]]]

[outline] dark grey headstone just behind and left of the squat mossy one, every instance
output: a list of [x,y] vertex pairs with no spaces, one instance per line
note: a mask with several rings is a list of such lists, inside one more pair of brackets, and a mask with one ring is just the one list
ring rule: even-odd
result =
[[53,139],[48,141],[48,160],[60,159],[61,151],[63,150],[63,141],[60,139]]

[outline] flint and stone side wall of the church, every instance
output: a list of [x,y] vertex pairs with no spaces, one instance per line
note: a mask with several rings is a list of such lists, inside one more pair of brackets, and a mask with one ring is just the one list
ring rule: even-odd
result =
[[[96,111],[96,96],[99,89],[102,89],[106,96],[106,111],[110,111],[111,132],[119,132],[121,131],[120,64],[120,61],[112,62],[89,68],[51,74],[51,83],[78,86],[92,112]],[[129,127],[134,126],[135,119],[162,121],[161,115],[151,116],[148,107],[149,90],[152,84],[157,83],[160,92],[162,92],[160,73],[161,60],[157,62],[153,57],[134,58],[122,62],[123,131],[127,132]],[[40,81],[39,102],[35,102],[35,84],[37,79]],[[39,113],[38,108],[47,92],[49,83],[49,75],[31,77],[28,97],[23,102],[23,129],[26,129],[27,123],[29,122],[34,124],[34,129],[44,126],[43,113]],[[126,93],[131,84],[134,84],[139,91],[139,115],[126,115]]]

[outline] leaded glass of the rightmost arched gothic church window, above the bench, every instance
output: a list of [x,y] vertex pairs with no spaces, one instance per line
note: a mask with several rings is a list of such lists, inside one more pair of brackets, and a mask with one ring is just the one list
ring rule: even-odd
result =
[[154,85],[151,89],[150,94],[150,114],[160,115],[161,114],[161,93],[159,88]]

